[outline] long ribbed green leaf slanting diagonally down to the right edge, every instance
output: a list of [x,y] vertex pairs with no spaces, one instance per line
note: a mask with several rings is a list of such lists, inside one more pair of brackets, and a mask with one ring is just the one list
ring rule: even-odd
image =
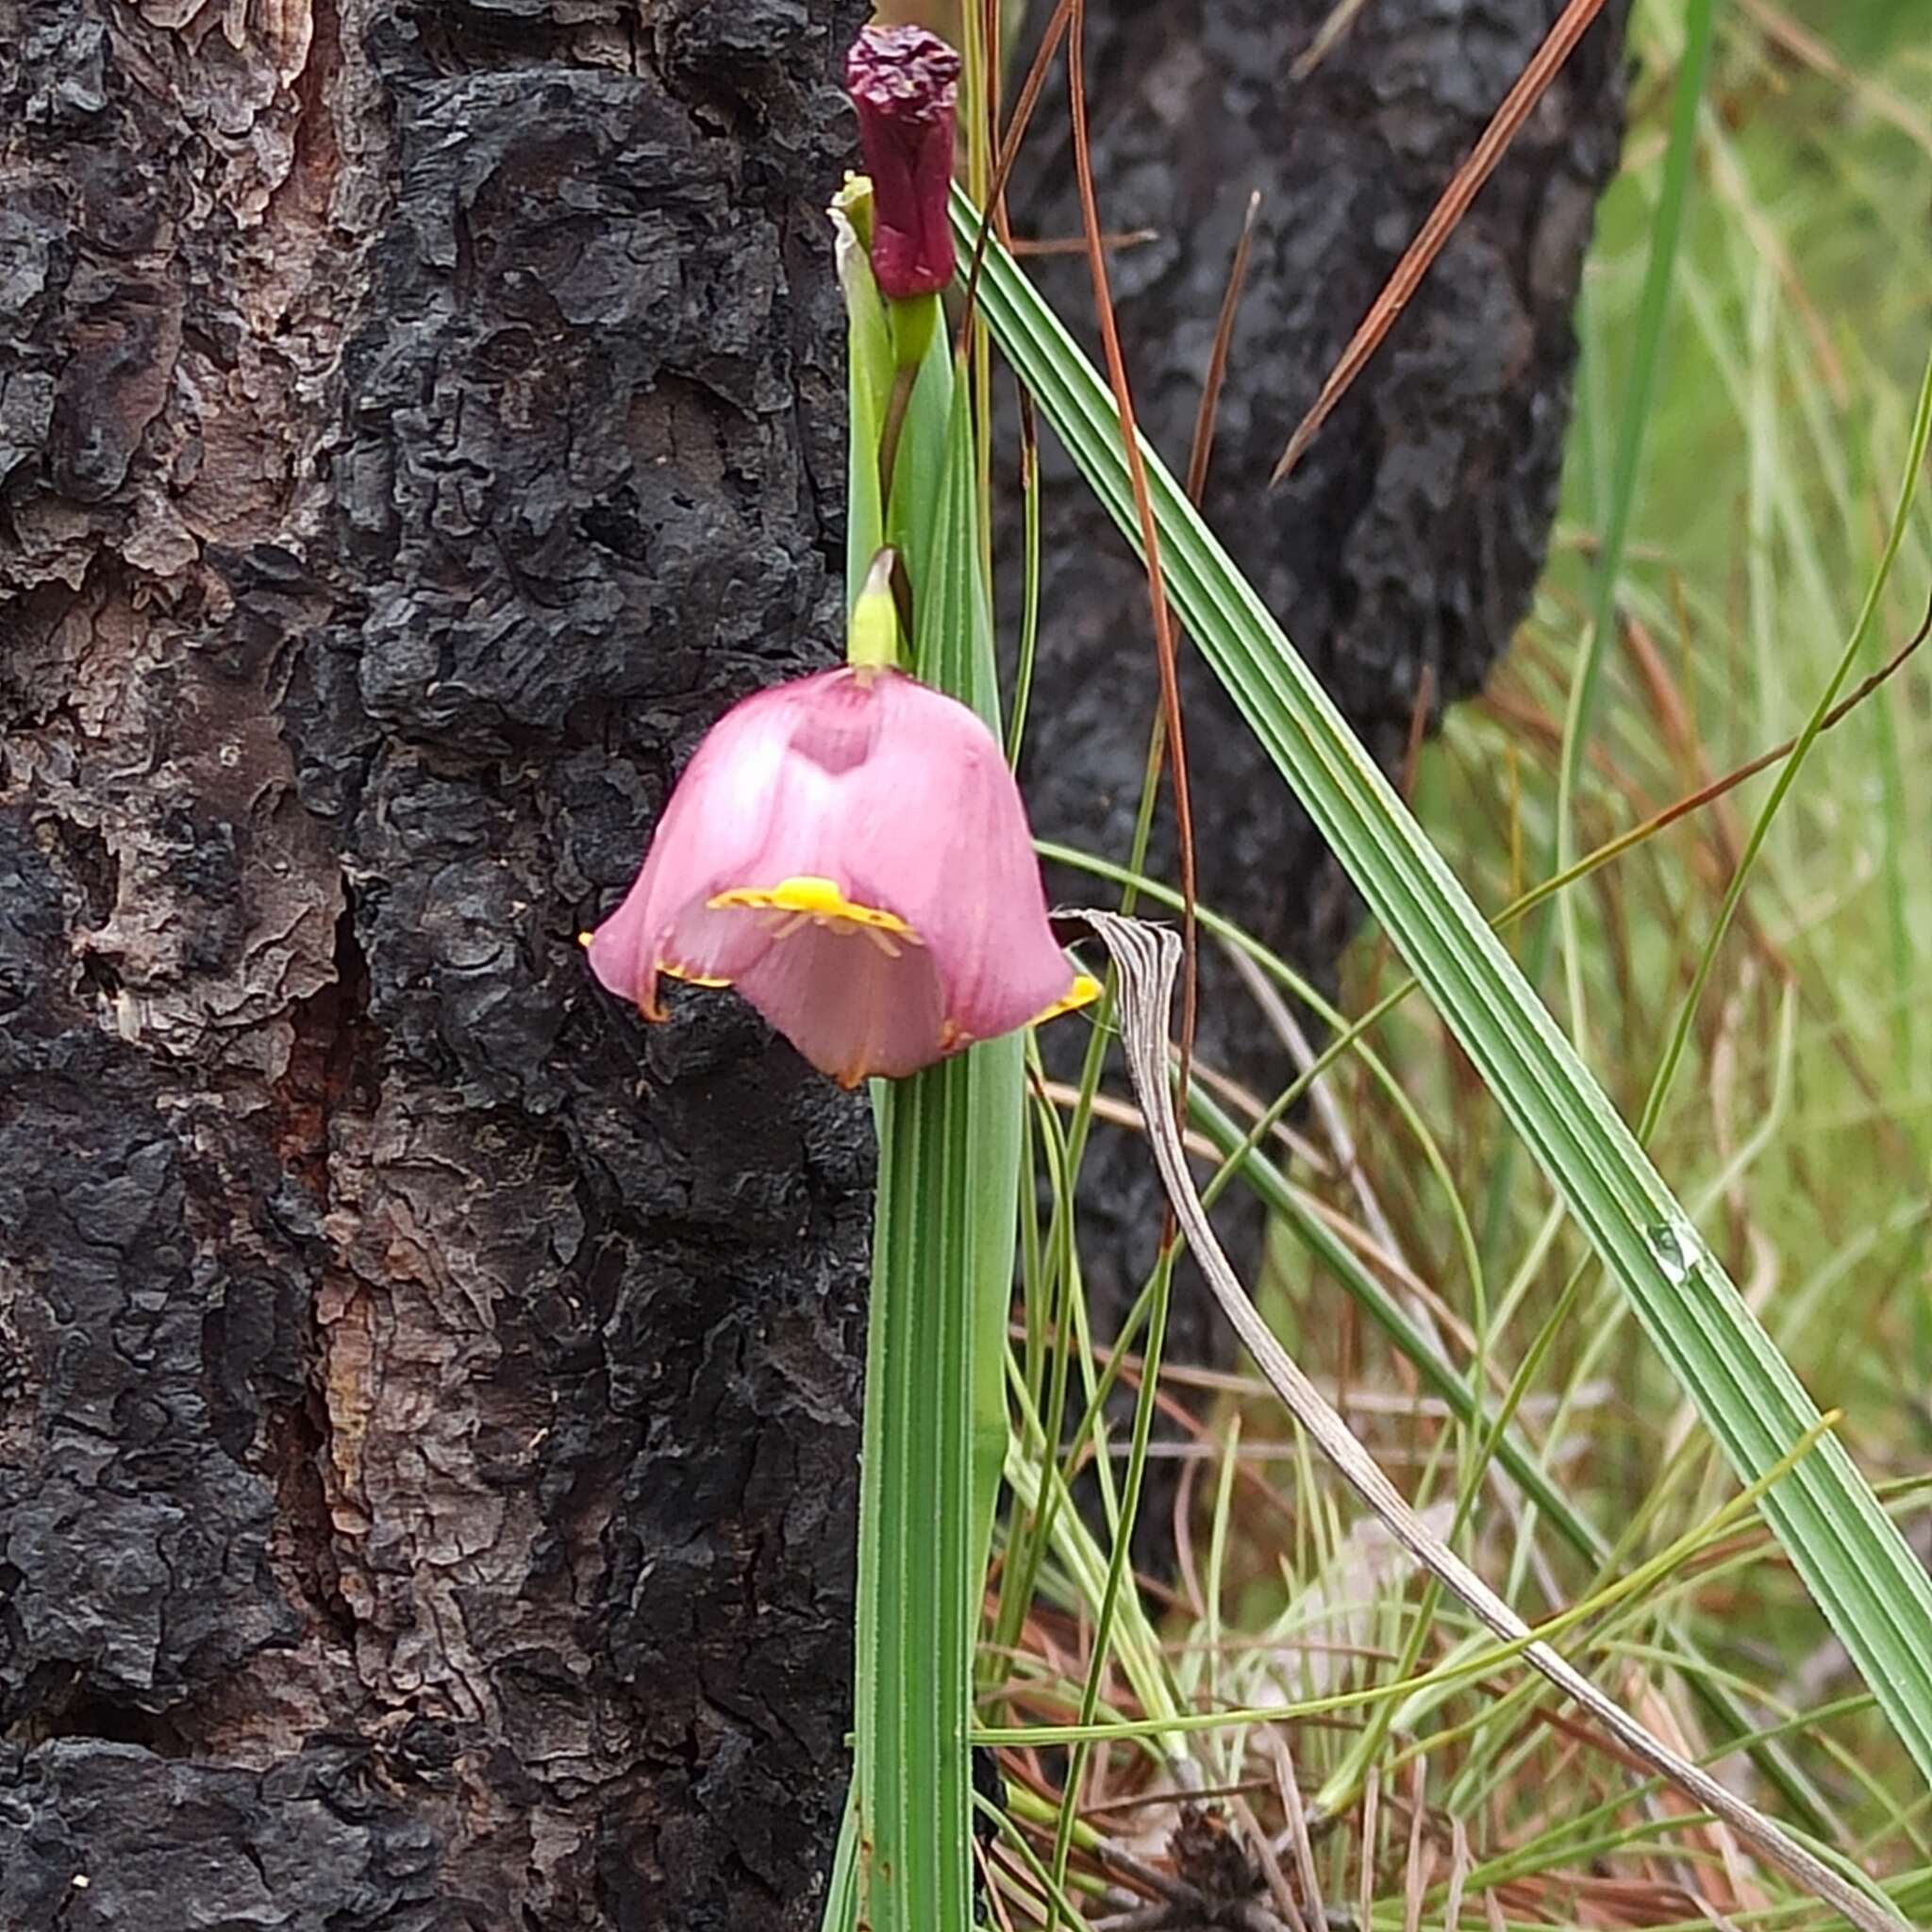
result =
[[[978,240],[980,216],[964,195],[954,199],[954,224],[968,243]],[[993,242],[980,307],[1041,415],[1134,543],[1107,388]],[[1920,458],[1922,439],[1907,489]],[[1188,636],[1631,1296],[1731,1466],[1745,1480],[1766,1474],[1818,1408],[1267,607],[1151,450],[1146,462],[1167,589]],[[1835,1437],[1768,1493],[1764,1511],[1932,1781],[1932,1578]]]

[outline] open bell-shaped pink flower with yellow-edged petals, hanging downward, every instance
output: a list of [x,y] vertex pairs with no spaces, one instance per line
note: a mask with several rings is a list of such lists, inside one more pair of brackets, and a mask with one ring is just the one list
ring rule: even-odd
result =
[[1026,808],[966,705],[877,667],[734,705],[643,871],[589,937],[612,993],[734,985],[844,1086],[1086,1005],[1047,925]]

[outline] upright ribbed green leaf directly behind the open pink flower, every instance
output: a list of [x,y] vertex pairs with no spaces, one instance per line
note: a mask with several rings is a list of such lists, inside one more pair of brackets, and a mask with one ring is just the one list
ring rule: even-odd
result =
[[[866,427],[858,415],[854,423]],[[912,585],[916,670],[997,732],[972,419],[943,332],[912,390],[887,533]],[[875,1088],[856,1824],[840,1847],[827,1932],[974,1924],[974,1648],[1007,1451],[1022,1103],[1020,1034]]]

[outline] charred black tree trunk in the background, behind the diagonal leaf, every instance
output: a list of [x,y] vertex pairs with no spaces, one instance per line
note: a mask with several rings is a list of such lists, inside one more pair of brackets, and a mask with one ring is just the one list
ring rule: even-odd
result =
[[[1117,232],[1153,230],[1111,261],[1140,425],[1180,473],[1235,240],[1260,189],[1206,512],[1391,771],[1420,694],[1434,721],[1480,686],[1542,564],[1569,423],[1571,311],[1621,131],[1619,0],[1584,35],[1300,468],[1273,495],[1267,477],[1557,12],[1557,0],[1368,0],[1294,79],[1333,0],[1088,10],[1101,218]],[[1020,234],[1080,234],[1061,99],[1049,91],[1022,156]],[[1043,259],[1034,272],[1063,315],[1092,315],[1084,259]],[[1157,705],[1146,580],[1065,456],[1051,442],[1043,456],[1041,697],[1028,726],[1028,798],[1043,835],[1124,856]],[[1192,651],[1182,670],[1202,900],[1321,981],[1356,900]],[[1165,811],[1150,867],[1177,877]],[[1078,875],[1053,885],[1070,900],[1099,891]],[[1204,1057],[1264,1097],[1279,1092],[1293,1074],[1287,1055],[1211,947],[1202,964]],[[1078,1039],[1063,1034],[1049,1051],[1068,1055]],[[1153,1258],[1157,1180],[1146,1151],[1117,1130],[1095,1130],[1094,1159],[1082,1192],[1088,1283],[1124,1310]],[[1231,1200],[1221,1217],[1252,1265],[1258,1211]],[[1177,1296],[1173,1335],[1192,1358],[1227,1347],[1194,1283]],[[1163,1536],[1159,1507],[1153,1519]]]

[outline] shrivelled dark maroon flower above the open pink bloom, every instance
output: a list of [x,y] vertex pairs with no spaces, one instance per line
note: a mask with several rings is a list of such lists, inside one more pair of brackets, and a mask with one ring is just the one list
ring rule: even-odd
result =
[[952,280],[952,110],[960,56],[925,27],[866,27],[846,54],[846,93],[871,176],[871,272],[881,294],[937,294]]

